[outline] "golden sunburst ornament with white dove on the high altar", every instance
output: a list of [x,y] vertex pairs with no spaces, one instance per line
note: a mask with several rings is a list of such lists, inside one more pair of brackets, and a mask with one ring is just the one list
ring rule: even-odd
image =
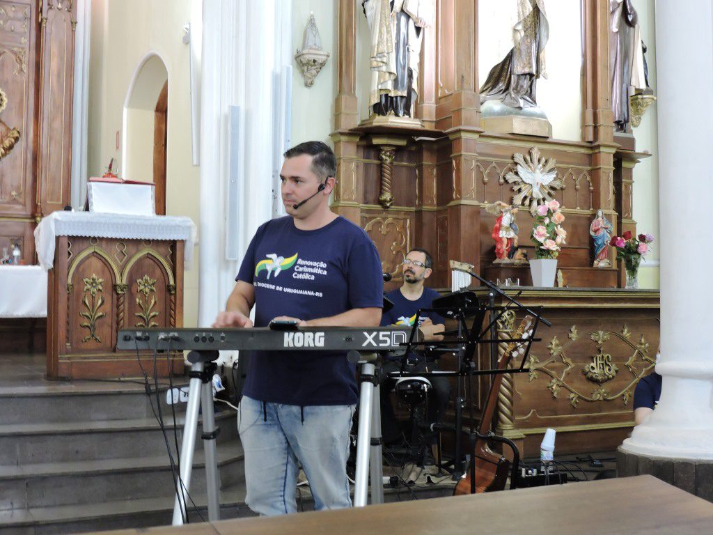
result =
[[541,158],[540,149],[533,147],[530,156],[517,153],[513,160],[518,164],[518,172],[505,175],[514,184],[513,205],[530,205],[530,213],[535,215],[538,205],[552,200],[555,191],[563,188],[562,180],[557,178],[555,158]]

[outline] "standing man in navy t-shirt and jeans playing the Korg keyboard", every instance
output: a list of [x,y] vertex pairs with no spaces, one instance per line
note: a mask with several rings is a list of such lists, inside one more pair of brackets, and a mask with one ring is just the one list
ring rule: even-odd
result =
[[[309,141],[284,158],[288,215],[257,229],[214,327],[252,327],[253,305],[255,327],[272,320],[295,320],[299,327],[379,325],[379,253],[364,230],[329,209],[332,149]],[[298,462],[315,509],[350,506],[346,463],[357,396],[346,352],[254,352],[242,392],[238,432],[250,509],[297,511]]]

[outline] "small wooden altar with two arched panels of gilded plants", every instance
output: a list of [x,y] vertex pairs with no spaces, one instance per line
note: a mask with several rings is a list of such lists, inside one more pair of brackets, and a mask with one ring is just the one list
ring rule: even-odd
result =
[[183,326],[182,240],[58,236],[49,271],[47,376],[183,373],[183,352],[117,351],[118,330]]

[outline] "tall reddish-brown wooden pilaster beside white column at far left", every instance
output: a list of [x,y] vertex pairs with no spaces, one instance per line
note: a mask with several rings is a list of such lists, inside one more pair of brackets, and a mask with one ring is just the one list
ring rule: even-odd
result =
[[76,2],[41,1],[37,212],[46,215],[70,201]]

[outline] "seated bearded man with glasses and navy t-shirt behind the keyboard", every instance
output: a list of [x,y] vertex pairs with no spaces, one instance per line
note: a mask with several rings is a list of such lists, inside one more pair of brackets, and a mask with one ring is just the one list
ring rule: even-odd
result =
[[[431,308],[434,299],[439,297],[436,290],[424,287],[424,282],[433,272],[434,260],[425,249],[414,248],[404,258],[404,284],[400,288],[386,294],[394,303],[391,310],[381,316],[381,325],[418,325],[424,333],[424,340],[441,340],[438,333],[443,332],[445,320],[436,312],[421,312],[419,309]],[[391,407],[389,392],[394,387],[395,379],[386,374],[401,370],[402,359],[385,362],[381,379],[381,434],[384,442],[389,444],[401,437],[399,424],[396,422],[394,407]],[[435,358],[427,358],[423,352],[411,352],[407,357],[406,371],[433,372],[439,371]],[[448,407],[451,396],[451,384],[446,377],[429,377],[431,395],[429,396],[429,422],[440,422]],[[434,443],[435,437],[429,438]]]

